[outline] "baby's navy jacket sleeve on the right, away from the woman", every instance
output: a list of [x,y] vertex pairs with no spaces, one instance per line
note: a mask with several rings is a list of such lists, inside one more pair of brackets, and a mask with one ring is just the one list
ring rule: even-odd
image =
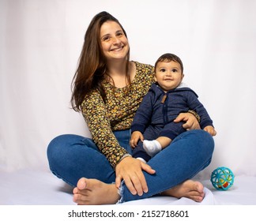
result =
[[210,118],[208,112],[202,103],[198,100],[198,96],[194,92],[188,92],[188,105],[190,110],[195,111],[200,116],[200,126],[204,129],[207,125],[213,126],[213,120]]

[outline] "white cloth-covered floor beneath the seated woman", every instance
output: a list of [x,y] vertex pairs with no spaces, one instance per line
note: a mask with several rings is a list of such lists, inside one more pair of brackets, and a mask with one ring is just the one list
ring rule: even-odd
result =
[[[75,205],[72,201],[72,188],[48,170],[0,172],[0,180],[1,205]],[[256,205],[256,177],[235,177],[234,185],[227,191],[214,189],[209,180],[201,182],[205,185],[206,193],[201,203],[187,198],[151,197],[119,205]]]

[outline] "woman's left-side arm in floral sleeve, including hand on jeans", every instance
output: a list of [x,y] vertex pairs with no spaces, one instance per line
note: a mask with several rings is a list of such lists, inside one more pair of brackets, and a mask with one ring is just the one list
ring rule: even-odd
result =
[[104,101],[98,92],[92,92],[86,96],[84,103],[82,103],[82,114],[92,134],[92,140],[115,170],[116,186],[119,187],[121,181],[125,180],[131,193],[147,192],[148,187],[142,170],[149,174],[155,173],[155,170],[140,160],[127,155],[126,149],[119,145],[111,130]]

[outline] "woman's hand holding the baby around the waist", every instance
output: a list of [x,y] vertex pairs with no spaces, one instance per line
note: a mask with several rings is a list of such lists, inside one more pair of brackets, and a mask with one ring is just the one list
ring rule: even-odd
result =
[[186,122],[183,124],[183,128],[186,130],[190,129],[200,129],[197,118],[190,113],[180,113],[177,118],[174,120],[175,123]]

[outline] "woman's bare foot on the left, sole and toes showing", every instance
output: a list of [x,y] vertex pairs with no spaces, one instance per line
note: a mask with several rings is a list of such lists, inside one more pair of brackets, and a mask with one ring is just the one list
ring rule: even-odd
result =
[[116,204],[120,196],[115,184],[81,178],[73,189],[73,201],[79,205]]

